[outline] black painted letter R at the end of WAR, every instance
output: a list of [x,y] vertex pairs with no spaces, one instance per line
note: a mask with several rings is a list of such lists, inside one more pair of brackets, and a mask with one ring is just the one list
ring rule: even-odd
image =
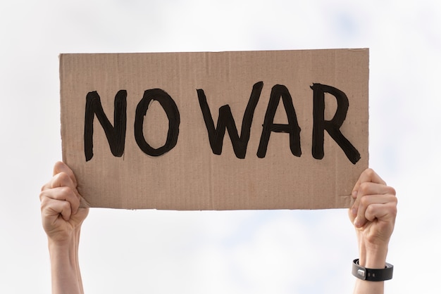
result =
[[[340,127],[346,119],[349,108],[349,100],[343,91],[324,84],[313,84],[313,131],[312,131],[312,155],[313,158],[323,159],[324,132],[328,132],[331,138],[342,148],[347,158],[355,165],[360,160],[360,153],[340,132]],[[333,95],[337,99],[337,110],[332,120],[325,120],[325,93]]]

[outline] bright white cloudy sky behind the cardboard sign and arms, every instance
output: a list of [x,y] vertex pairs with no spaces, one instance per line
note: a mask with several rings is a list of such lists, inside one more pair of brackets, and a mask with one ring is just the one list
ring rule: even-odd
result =
[[[0,293],[49,293],[39,189],[61,160],[59,53],[370,49],[370,158],[397,190],[387,293],[440,293],[441,2],[1,1]],[[351,293],[346,210],[92,209],[86,293]]]

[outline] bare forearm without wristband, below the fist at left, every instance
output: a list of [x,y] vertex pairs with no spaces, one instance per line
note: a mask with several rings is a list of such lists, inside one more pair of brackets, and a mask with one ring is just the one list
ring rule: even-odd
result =
[[51,257],[52,294],[83,294],[78,244],[80,231],[69,241],[56,242],[49,239]]

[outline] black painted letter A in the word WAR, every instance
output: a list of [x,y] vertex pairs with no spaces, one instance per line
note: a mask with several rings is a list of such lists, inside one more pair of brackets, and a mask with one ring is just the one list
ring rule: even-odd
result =
[[[280,102],[280,97],[282,98],[283,106],[285,107],[288,124],[273,123],[275,112]],[[290,133],[290,150],[292,155],[297,157],[302,155],[302,149],[300,148],[300,127],[292,104],[292,97],[287,87],[280,84],[276,84],[273,89],[271,89],[270,101],[268,103],[268,108],[266,108],[265,120],[263,120],[263,130],[259,149],[257,150],[257,157],[265,157],[271,132]]]

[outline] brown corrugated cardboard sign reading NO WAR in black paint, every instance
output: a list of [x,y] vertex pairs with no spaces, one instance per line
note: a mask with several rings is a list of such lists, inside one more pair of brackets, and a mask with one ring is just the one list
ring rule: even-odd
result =
[[91,207],[348,207],[368,49],[62,54],[63,160]]

